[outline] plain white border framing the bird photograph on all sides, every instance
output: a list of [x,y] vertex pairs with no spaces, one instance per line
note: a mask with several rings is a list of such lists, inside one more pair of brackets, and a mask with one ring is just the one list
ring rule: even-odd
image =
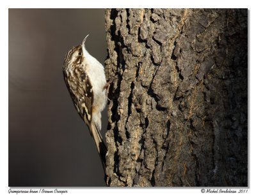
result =
[[[0,3],[0,24],[1,24],[1,36],[0,36],[0,48],[1,48],[1,76],[0,76],[0,151],[1,151],[1,170],[0,170],[0,193],[1,194],[8,194],[8,8],[248,8],[249,18],[248,20],[250,24],[248,24],[250,29],[250,36],[249,36],[249,47],[248,50],[250,54],[255,53],[255,5],[253,0],[187,0],[187,1],[175,1],[175,0],[129,0],[129,1],[118,1],[118,0],[106,0],[106,1],[86,1],[86,0],[77,0],[77,1],[68,1],[68,0],[56,0],[56,1],[35,1],[35,0],[10,0],[10,1],[1,1]],[[253,24],[254,23],[254,24]],[[241,48],[243,49],[243,48]],[[255,155],[253,152],[255,147],[255,124],[253,121],[254,114],[256,110],[254,99],[255,97],[255,79],[254,76],[255,72],[255,58],[253,55],[248,55],[251,59],[248,59],[248,64],[250,68],[248,68],[248,73],[250,74],[250,91],[249,95],[249,102],[250,102],[250,112],[249,122],[250,127],[248,137],[248,143],[250,143],[250,189],[248,190],[247,194],[255,194],[255,179],[253,173],[255,173]],[[250,141],[249,141],[250,140]],[[68,194],[93,194],[99,192],[100,194],[134,194],[134,193],[149,193],[149,194],[156,194],[159,190],[164,194],[202,194],[200,192],[201,188],[194,188],[194,189],[180,189],[180,188],[146,188],[146,189],[134,189],[129,188],[118,188],[118,189],[93,189],[93,188],[70,188],[68,189]],[[215,188],[216,189],[216,188]],[[64,190],[64,189],[63,189]],[[122,191],[120,191],[122,190]]]

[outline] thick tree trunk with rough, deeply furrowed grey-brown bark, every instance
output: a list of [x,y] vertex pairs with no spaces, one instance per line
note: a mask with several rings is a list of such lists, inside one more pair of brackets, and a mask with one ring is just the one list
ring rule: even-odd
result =
[[109,186],[247,186],[246,9],[108,9]]

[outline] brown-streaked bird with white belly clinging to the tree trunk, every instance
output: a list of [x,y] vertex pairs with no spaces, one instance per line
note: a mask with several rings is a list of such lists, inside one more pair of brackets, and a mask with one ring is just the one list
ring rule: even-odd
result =
[[63,73],[77,112],[89,127],[105,166],[107,148],[99,130],[101,129],[101,112],[107,101],[106,77],[102,64],[85,49],[87,37],[88,35],[80,45],[67,52]]

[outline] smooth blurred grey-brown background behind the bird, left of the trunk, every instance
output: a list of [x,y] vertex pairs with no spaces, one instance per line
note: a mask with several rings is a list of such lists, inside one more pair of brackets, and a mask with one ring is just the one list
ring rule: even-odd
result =
[[62,74],[68,49],[87,34],[88,52],[104,64],[104,22],[103,9],[9,9],[9,186],[106,186]]

